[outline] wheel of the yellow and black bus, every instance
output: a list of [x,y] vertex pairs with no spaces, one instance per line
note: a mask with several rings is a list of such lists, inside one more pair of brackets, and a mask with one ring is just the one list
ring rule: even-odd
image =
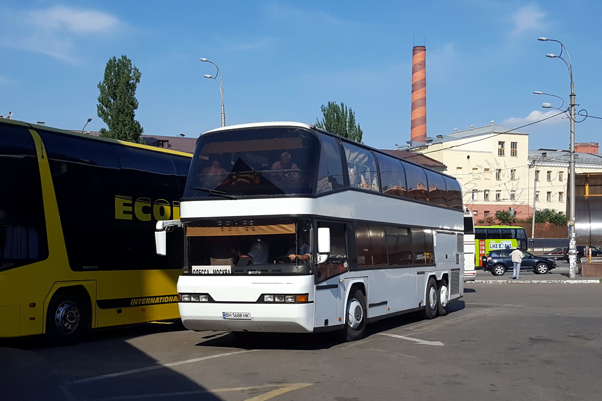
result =
[[78,342],[88,328],[89,308],[84,296],[76,292],[57,292],[46,313],[46,339],[54,346]]

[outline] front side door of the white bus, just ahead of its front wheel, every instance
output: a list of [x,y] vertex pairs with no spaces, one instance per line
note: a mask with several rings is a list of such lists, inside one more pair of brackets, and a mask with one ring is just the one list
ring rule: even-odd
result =
[[[315,269],[314,327],[340,324],[338,318],[344,310],[344,283],[341,274],[349,270],[347,225],[321,221],[318,227],[330,228],[330,255]],[[315,230],[317,231],[317,230]],[[317,244],[317,241],[314,241]],[[314,246],[314,249],[317,246]]]

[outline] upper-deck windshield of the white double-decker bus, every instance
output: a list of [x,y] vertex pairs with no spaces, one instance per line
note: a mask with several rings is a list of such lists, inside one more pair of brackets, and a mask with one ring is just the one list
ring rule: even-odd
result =
[[262,127],[200,136],[184,198],[312,194],[318,139],[299,127]]

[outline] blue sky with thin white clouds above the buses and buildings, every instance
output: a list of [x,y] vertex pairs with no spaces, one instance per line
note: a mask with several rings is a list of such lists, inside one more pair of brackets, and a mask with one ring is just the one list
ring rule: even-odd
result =
[[[409,140],[412,46],[426,44],[427,135],[510,128],[569,100],[560,45],[573,62],[577,110],[602,117],[598,1],[29,1],[0,0],[0,114],[49,126],[105,126],[96,114],[107,60],[125,54],[142,73],[136,118],[149,135],[196,137],[226,123],[315,123],[320,105],[344,102],[364,142]],[[550,113],[550,114],[547,114]],[[576,124],[577,142],[600,141],[602,120]],[[569,122],[521,130],[530,148],[568,148]]]

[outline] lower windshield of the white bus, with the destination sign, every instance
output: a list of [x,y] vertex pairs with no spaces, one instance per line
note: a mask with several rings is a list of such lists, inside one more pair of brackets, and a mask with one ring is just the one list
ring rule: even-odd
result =
[[306,219],[190,222],[185,234],[185,273],[187,268],[191,275],[314,272],[311,221]]

